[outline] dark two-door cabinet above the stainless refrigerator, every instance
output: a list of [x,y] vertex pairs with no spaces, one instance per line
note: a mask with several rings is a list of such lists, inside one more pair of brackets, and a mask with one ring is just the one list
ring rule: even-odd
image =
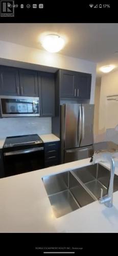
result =
[[89,99],[91,89],[91,74],[60,70],[60,97]]

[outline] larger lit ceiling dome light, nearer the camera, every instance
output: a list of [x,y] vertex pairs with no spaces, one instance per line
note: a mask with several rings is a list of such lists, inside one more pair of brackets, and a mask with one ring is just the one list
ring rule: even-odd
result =
[[59,52],[64,47],[65,42],[59,35],[46,35],[41,41],[41,44],[48,52]]

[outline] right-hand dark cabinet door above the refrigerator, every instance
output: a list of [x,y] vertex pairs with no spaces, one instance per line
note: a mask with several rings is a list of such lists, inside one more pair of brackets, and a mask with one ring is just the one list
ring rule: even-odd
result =
[[90,99],[91,75],[77,73],[76,89],[77,98]]

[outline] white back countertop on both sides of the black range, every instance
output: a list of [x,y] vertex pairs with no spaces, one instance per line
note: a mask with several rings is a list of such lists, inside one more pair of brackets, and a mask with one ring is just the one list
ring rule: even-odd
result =
[[[41,135],[38,134],[38,135],[40,136],[40,138],[43,140],[44,143],[46,143],[46,142],[53,142],[53,141],[59,141],[60,140],[57,136],[55,136],[52,133],[51,134],[41,134]],[[3,148],[5,139],[3,139],[3,138],[1,139],[0,138],[0,148]]]

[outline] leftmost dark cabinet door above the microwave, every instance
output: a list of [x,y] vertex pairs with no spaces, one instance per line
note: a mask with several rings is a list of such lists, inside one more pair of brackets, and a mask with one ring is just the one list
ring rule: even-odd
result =
[[18,70],[12,67],[0,66],[0,95],[19,95]]

